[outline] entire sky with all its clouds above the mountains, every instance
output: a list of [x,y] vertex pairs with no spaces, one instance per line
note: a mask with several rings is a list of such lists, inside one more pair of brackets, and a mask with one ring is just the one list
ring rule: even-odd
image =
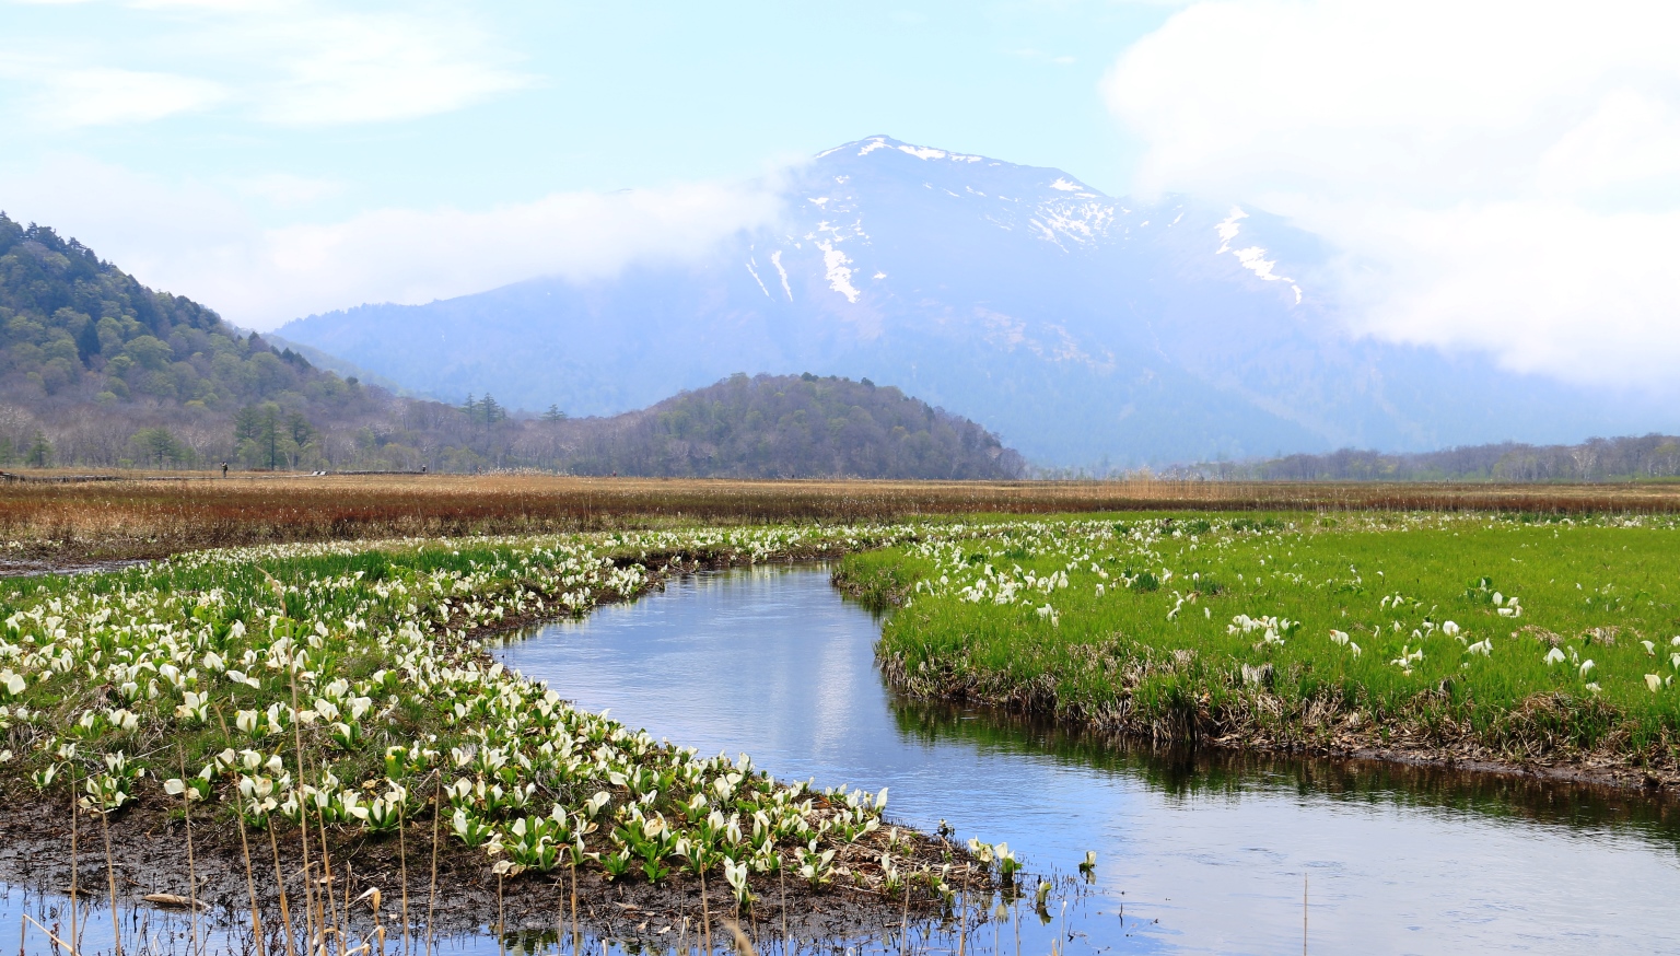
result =
[[247,328],[699,255],[885,133],[1290,217],[1356,329],[1665,388],[1680,5],[0,0],[0,208]]

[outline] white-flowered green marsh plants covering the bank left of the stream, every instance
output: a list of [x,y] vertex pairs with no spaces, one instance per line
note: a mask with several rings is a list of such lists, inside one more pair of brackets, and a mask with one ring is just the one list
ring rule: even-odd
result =
[[[570,879],[575,924],[580,872],[596,887],[711,880],[722,916],[766,896],[786,901],[790,889],[860,890],[894,909],[912,897],[949,904],[966,855],[884,827],[885,791],[780,783],[746,754],[655,741],[506,672],[475,640],[632,598],[696,556],[788,559],[911,534],[738,528],[287,544],[3,581],[0,790],[62,817],[76,805],[82,850],[109,847],[111,822],[131,813],[185,848],[178,825],[193,815],[200,840],[244,857],[239,896],[249,890],[252,924],[265,919],[270,936],[277,904],[287,951],[343,938],[344,864],[366,870],[354,857],[368,845],[396,847],[378,865],[402,867],[402,926],[428,926],[437,835],[452,860],[477,860],[470,879],[494,875],[497,897],[521,875]],[[62,820],[47,823],[62,833]],[[81,880],[118,885],[109,848],[99,870]],[[299,870],[311,879],[287,875]]]

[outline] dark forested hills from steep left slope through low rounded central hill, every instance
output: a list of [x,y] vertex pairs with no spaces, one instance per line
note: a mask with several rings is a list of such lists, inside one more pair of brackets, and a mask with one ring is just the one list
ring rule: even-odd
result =
[[521,415],[489,395],[459,407],[396,397],[0,213],[0,467],[223,460],[654,475],[1020,472],[1020,459],[973,422],[837,378],[743,375],[645,412],[583,420],[559,408]]

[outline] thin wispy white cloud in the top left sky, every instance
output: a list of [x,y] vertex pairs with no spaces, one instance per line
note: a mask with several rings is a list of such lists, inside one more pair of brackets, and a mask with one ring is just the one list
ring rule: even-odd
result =
[[[77,17],[97,17],[87,5]],[[286,126],[383,123],[449,113],[536,77],[467,10],[348,12],[314,0],[129,3],[136,35],[13,37],[0,76],[32,87],[30,113],[60,126],[146,123],[220,108]],[[27,50],[24,54],[22,50]],[[141,69],[166,60],[170,71]],[[27,67],[27,69],[25,69]]]

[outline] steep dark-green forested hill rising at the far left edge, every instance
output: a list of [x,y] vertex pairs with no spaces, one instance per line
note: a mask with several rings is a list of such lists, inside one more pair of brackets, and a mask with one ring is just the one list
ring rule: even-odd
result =
[[0,464],[237,460],[242,413],[296,457],[383,400],[0,213]]

